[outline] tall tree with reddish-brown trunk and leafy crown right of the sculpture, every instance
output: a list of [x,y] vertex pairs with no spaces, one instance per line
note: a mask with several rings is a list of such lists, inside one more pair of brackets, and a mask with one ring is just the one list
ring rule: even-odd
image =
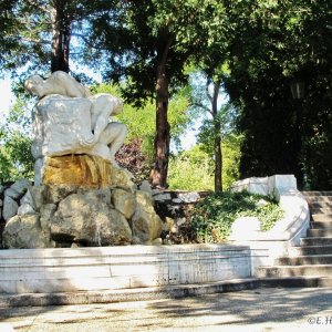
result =
[[[156,102],[153,185],[166,186],[169,156],[168,101],[173,90],[186,82],[184,68],[209,41],[209,24],[218,23],[216,1],[128,0],[94,23],[92,40],[108,52],[107,77],[126,77],[127,100]],[[107,11],[108,9],[108,11]]]

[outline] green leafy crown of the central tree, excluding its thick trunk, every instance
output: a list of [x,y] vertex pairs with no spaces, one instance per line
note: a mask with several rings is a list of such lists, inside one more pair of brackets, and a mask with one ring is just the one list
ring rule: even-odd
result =
[[105,77],[127,80],[123,95],[136,105],[156,97],[156,73],[162,63],[172,92],[186,83],[185,66],[205,52],[212,42],[211,27],[218,30],[220,23],[217,1],[148,0],[143,6],[131,0],[118,7],[95,2],[103,14],[91,21],[90,40],[97,45],[92,52],[96,58],[104,55]]

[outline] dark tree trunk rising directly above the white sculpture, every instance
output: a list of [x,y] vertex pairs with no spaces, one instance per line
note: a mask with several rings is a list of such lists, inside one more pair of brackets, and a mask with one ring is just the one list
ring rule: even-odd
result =
[[71,40],[71,19],[66,12],[66,0],[53,2],[51,9],[52,22],[52,58],[51,72],[63,71],[69,73],[69,55]]

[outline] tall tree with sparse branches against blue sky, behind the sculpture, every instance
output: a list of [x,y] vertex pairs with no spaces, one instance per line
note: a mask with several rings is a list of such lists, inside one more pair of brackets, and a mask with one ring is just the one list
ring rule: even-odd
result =
[[[83,22],[96,10],[87,4],[84,0],[4,1],[2,39],[7,52],[0,59],[2,70],[11,70],[12,74],[22,68],[28,72],[69,72],[70,50],[80,50],[84,42]],[[71,45],[73,33],[82,38],[81,43]]]

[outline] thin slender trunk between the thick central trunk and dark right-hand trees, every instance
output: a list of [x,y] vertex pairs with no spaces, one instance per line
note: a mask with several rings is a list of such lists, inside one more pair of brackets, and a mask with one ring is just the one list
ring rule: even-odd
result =
[[221,151],[221,124],[218,117],[218,96],[220,82],[214,83],[212,117],[215,134],[215,191],[222,191],[222,151]]

